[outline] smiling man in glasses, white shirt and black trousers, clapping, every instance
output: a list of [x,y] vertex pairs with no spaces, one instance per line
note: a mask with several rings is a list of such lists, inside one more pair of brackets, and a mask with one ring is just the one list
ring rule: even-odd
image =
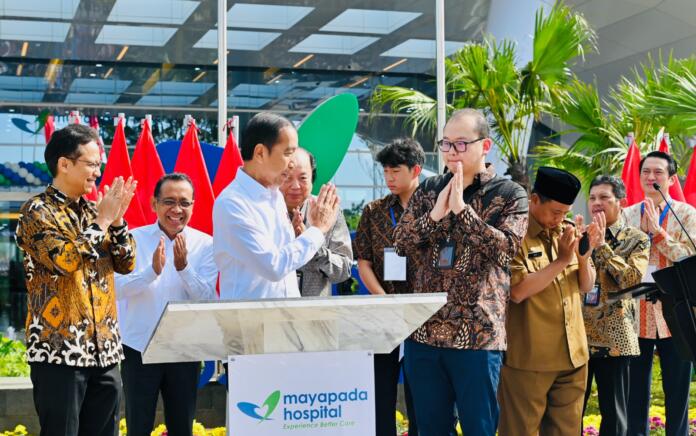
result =
[[192,432],[200,362],[144,365],[141,353],[167,302],[216,298],[213,240],[187,227],[193,196],[193,184],[185,174],[168,174],[157,182],[151,200],[157,222],[132,231],[135,270],[115,278],[126,355],[121,378],[129,435],[152,432],[160,392],[168,434]]

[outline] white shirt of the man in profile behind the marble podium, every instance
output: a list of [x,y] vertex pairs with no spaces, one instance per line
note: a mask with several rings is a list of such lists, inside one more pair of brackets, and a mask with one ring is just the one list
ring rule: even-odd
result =
[[282,193],[243,169],[215,200],[213,235],[220,298],[233,300],[300,297],[295,270],[324,244],[317,227],[296,238]]

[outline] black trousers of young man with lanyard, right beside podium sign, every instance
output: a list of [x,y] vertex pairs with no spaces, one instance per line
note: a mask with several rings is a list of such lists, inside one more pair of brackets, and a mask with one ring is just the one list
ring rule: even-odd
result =
[[[396,434],[396,393],[399,384],[399,347],[389,354],[375,354],[375,424],[378,436]],[[417,436],[416,411],[413,408],[411,390],[404,375],[408,434]]]

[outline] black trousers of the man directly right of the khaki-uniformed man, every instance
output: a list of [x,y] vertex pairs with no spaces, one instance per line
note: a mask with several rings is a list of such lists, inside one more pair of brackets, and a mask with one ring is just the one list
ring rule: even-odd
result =
[[[587,366],[587,389],[582,414],[592,391],[592,378],[597,381],[602,436],[628,436],[629,369],[632,357],[590,358]],[[582,429],[580,430],[582,434]]]

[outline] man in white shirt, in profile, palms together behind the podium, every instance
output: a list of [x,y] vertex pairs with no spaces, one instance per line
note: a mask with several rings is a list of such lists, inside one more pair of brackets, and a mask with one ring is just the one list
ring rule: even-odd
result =
[[311,200],[309,226],[295,237],[278,187],[294,166],[298,138],[287,119],[261,112],[242,132],[244,166],[215,200],[213,250],[221,299],[300,297],[295,270],[309,262],[336,222],[336,188]]

